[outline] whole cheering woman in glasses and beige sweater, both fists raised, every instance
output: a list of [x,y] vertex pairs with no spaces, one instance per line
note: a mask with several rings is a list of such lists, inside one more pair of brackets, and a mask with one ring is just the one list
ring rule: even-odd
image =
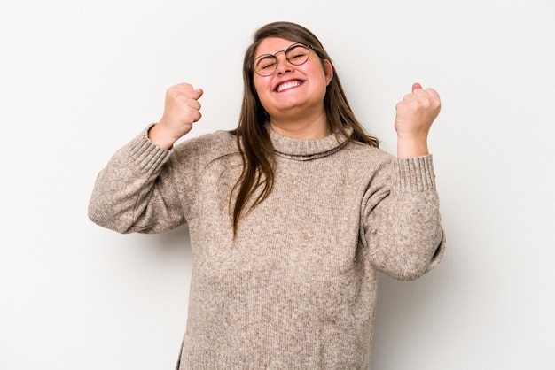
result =
[[308,29],[270,23],[243,67],[236,130],[174,146],[201,89],[168,89],[160,122],[99,173],[90,219],[121,233],[188,224],[192,281],[180,369],[367,369],[379,272],[426,274],[445,248],[414,86],[396,106],[397,158],[351,111]]

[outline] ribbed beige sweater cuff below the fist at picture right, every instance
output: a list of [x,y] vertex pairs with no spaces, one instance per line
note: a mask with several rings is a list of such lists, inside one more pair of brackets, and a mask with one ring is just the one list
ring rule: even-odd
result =
[[432,155],[397,159],[396,185],[403,192],[435,189]]

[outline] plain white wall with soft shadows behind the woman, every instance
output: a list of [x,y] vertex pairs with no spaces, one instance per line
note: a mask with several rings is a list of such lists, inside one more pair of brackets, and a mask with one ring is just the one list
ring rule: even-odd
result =
[[383,277],[374,370],[555,368],[555,5],[551,0],[0,3],[0,368],[172,369],[186,227],[118,235],[87,218],[113,152],[205,90],[192,135],[231,129],[254,30],[309,27],[357,116],[395,152],[395,104],[437,89],[430,135],[448,251]]

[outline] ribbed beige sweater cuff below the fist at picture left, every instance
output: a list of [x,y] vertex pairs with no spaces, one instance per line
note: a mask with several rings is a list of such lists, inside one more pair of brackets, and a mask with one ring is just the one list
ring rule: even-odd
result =
[[148,138],[148,130],[153,125],[146,127],[128,144],[129,158],[137,170],[145,173],[156,171],[169,158],[170,150],[164,150]]

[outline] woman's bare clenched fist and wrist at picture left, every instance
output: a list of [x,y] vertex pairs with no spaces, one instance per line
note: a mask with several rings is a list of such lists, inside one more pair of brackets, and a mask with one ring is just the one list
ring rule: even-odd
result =
[[148,138],[163,149],[171,148],[179,138],[191,131],[192,124],[200,117],[199,98],[202,89],[192,89],[188,83],[180,83],[166,91],[164,114],[158,124],[148,132]]

